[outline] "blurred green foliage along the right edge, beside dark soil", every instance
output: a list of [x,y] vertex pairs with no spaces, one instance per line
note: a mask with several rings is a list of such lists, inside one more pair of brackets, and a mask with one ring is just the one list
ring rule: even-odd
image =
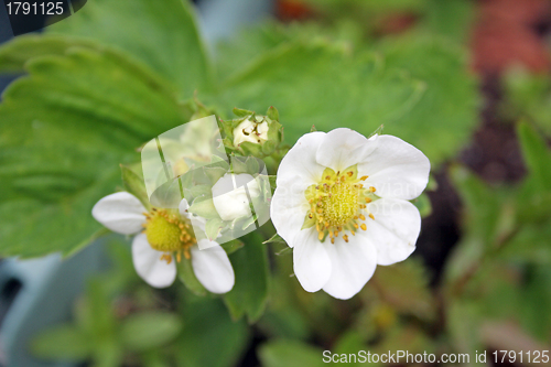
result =
[[[445,267],[449,330],[461,350],[488,343],[505,349],[511,339],[549,341],[551,150],[526,122],[519,123],[518,136],[529,172],[516,187],[489,187],[464,169],[452,172],[466,219]],[[483,326],[488,320],[498,326]],[[503,326],[510,321],[521,327]]]

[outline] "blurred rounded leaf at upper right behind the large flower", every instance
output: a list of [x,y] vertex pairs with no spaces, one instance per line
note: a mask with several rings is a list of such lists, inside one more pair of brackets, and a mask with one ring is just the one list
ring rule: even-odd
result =
[[385,125],[385,133],[420,149],[433,166],[454,156],[478,120],[478,86],[466,51],[447,40],[421,36],[386,42],[379,48],[388,67],[406,69],[426,88],[408,114]]

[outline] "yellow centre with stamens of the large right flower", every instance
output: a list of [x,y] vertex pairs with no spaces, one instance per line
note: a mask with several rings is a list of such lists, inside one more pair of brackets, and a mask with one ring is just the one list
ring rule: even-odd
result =
[[368,176],[358,179],[357,164],[352,165],[343,172],[335,172],[332,169],[323,171],[320,183],[306,188],[305,196],[311,205],[311,209],[304,218],[302,229],[315,226],[317,238],[323,242],[327,236],[331,242],[343,233],[343,239],[348,242],[348,235],[356,235],[356,230],[367,229],[364,212],[374,219],[366,204],[371,203],[376,196],[375,187],[364,188],[361,181]]

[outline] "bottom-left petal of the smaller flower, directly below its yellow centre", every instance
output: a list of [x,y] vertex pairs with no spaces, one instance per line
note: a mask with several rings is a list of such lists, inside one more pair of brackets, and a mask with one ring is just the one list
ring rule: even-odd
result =
[[154,288],[166,288],[176,279],[176,263],[161,260],[163,252],[154,250],[144,234],[134,237],[132,241],[132,260],[136,272],[148,284]]

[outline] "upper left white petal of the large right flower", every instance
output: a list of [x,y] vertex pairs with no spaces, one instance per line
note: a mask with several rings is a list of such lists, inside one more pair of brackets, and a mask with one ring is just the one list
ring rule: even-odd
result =
[[285,154],[278,169],[277,184],[280,181],[293,179],[304,185],[304,190],[318,182],[325,168],[315,160],[317,148],[323,141],[325,132],[315,131],[302,136]]

